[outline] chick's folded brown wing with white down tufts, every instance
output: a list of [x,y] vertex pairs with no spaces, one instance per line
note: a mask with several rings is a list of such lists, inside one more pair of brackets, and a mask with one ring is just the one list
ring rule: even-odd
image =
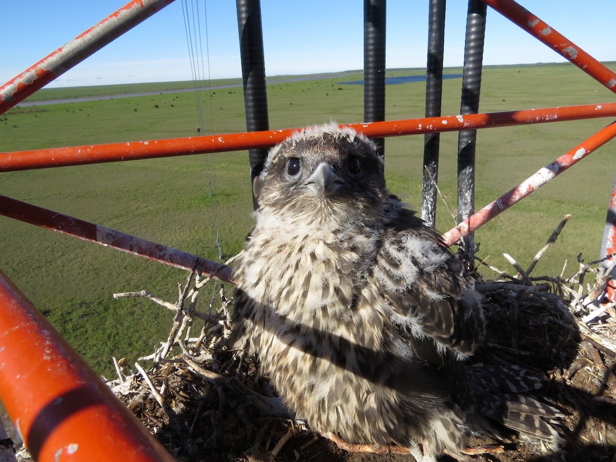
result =
[[415,339],[428,336],[471,353],[483,337],[484,318],[460,262],[411,211],[402,209],[389,225],[375,275],[393,322]]

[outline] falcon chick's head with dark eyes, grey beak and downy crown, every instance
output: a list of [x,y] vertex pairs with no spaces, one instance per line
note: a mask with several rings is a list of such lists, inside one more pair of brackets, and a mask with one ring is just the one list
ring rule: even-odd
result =
[[287,217],[374,217],[388,196],[375,144],[333,123],[296,132],[272,148],[253,186],[262,213]]

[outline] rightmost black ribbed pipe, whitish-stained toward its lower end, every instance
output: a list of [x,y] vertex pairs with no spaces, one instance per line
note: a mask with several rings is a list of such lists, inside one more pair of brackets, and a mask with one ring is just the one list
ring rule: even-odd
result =
[[[484,58],[485,17],[487,6],[480,0],[469,0],[466,16],[466,44],[460,114],[479,112],[481,71]],[[462,130],[458,134],[458,222],[474,213],[475,203],[475,145],[476,130]],[[474,267],[474,236],[464,237],[460,256],[469,269]]]

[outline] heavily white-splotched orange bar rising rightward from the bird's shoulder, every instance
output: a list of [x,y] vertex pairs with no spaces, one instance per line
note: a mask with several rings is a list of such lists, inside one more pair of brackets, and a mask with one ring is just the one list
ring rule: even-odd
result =
[[525,198],[535,189],[545,185],[549,180],[564,172],[573,164],[588,156],[591,152],[606,144],[609,140],[616,137],[616,122],[609,124],[606,128],[598,131],[577,145],[575,148],[557,158],[553,163],[543,167],[533,176],[524,180],[521,184],[500,198],[490,202],[471,217],[461,222],[458,226],[450,229],[443,235],[443,240],[448,246],[455,244],[462,237],[472,233],[474,230],[490,221],[496,215],[503,213],[506,209]]

